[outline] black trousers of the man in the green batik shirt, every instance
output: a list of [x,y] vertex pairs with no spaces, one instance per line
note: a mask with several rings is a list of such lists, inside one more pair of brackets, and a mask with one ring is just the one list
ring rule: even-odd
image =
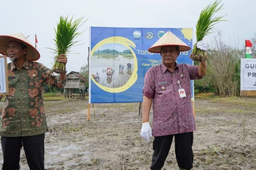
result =
[[35,136],[1,136],[4,163],[2,170],[20,169],[20,149],[24,148],[30,170],[44,170],[44,133]]

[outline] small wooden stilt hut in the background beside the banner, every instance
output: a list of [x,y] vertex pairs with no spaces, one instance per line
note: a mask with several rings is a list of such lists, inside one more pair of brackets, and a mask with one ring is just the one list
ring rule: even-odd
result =
[[[67,74],[67,83],[64,86],[65,99],[68,98],[85,98],[85,83],[88,82],[82,75],[78,72],[71,71]],[[77,93],[79,91],[79,94]]]

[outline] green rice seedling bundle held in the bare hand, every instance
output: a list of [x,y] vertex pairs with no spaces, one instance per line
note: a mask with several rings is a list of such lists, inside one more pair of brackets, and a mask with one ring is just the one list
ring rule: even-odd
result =
[[58,55],[67,55],[70,52],[70,48],[73,45],[76,45],[78,41],[75,41],[75,39],[80,34],[82,34],[82,32],[78,32],[78,28],[82,24],[84,24],[84,22],[86,22],[82,22],[83,18],[79,18],[74,21],[72,20],[73,17],[68,20],[68,16],[60,16],[60,22],[57,24],[57,29],[54,28],[54,45],[56,49],[53,50],[56,53],[56,56],[54,57],[54,65],[52,67],[52,71],[54,71],[55,73],[66,73],[66,66],[64,65],[64,63],[60,63],[57,61]]

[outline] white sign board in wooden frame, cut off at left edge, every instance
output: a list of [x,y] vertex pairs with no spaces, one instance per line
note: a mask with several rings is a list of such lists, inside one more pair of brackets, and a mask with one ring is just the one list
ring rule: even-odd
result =
[[0,56],[0,95],[8,95],[7,59]]

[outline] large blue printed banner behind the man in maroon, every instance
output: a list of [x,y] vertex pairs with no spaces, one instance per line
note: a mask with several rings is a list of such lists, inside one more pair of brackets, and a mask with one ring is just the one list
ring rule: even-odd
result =
[[[89,103],[142,102],[144,75],[162,62],[147,50],[168,31],[192,49],[192,28],[90,27]],[[192,65],[191,51],[177,63]],[[191,90],[193,98],[193,81]]]

